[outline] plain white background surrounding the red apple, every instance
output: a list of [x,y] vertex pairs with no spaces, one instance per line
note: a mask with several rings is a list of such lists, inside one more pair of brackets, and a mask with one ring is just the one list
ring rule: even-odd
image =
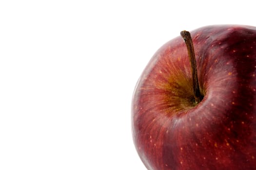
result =
[[130,106],[182,30],[256,26],[254,1],[1,0],[0,170],[145,170]]

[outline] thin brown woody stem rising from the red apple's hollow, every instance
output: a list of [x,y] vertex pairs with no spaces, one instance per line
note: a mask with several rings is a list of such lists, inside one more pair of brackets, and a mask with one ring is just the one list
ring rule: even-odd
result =
[[192,71],[193,91],[194,91],[195,103],[197,104],[201,102],[201,100],[203,99],[203,96],[200,93],[200,88],[198,83],[197,62],[196,62],[194,46],[193,46],[191,35],[188,31],[181,31],[180,35],[182,36],[188,50],[188,56],[190,59],[191,71]]

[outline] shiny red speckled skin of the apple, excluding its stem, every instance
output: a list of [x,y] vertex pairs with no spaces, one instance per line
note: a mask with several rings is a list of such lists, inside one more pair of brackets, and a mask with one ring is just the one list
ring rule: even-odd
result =
[[200,92],[181,36],[151,58],[135,87],[132,135],[148,170],[256,170],[256,27],[191,33]]

